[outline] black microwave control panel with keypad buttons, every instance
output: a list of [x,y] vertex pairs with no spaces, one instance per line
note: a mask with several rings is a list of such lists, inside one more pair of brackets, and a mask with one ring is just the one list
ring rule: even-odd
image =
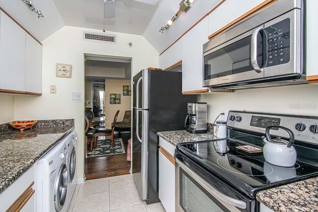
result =
[[265,28],[267,35],[266,67],[288,63],[290,60],[290,19]]

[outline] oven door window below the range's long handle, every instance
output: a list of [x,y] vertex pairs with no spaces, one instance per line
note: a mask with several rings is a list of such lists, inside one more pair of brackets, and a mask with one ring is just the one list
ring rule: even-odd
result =
[[185,212],[230,212],[182,168],[179,170],[179,202]]

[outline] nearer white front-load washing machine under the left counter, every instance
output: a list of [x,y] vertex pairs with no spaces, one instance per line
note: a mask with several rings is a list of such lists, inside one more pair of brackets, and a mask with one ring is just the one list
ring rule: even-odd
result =
[[37,212],[66,212],[67,144],[56,143],[37,161]]

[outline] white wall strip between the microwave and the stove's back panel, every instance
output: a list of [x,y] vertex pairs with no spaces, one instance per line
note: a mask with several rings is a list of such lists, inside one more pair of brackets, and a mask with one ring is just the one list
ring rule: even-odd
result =
[[208,103],[208,122],[229,110],[272,112],[318,116],[317,84],[290,85],[271,88],[236,90],[234,93],[211,93],[198,95],[199,102]]

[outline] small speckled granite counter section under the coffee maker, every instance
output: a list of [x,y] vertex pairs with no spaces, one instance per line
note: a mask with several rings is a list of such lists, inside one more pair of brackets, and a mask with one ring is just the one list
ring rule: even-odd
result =
[[162,131],[162,132],[157,132],[157,135],[175,146],[178,143],[183,143],[183,142],[207,141],[211,139],[218,139],[217,137],[213,136],[213,134],[211,133],[192,134],[192,133],[186,132],[185,130]]

